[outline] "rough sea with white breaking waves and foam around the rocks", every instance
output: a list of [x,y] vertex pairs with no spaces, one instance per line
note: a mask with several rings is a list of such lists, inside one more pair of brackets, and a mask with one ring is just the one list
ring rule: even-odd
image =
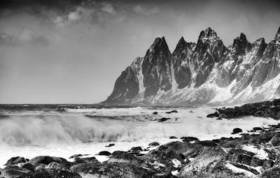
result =
[[[176,110],[172,114],[166,112]],[[272,118],[253,116],[216,120],[207,118],[214,107],[168,107],[103,104],[1,104],[0,167],[15,156],[95,156],[99,151],[127,151],[133,146],[147,148],[151,142],[165,144],[193,136],[200,140],[244,132],[253,127],[277,124]],[[153,114],[158,112],[158,114]],[[159,122],[161,118],[169,118]],[[178,139],[169,139],[174,136]],[[106,147],[109,144],[115,146]],[[156,149],[152,147],[150,149]]]

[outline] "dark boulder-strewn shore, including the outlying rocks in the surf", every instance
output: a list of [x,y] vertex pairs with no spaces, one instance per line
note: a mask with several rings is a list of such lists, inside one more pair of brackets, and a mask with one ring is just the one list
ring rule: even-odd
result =
[[[244,116],[279,119],[279,100],[244,104],[240,107],[217,108],[205,119],[238,120]],[[151,110],[152,111],[152,110]],[[156,116],[158,111],[151,112]],[[176,109],[165,114],[179,114]],[[208,117],[208,118],[207,118]],[[255,118],[258,119],[258,118]],[[165,124],[173,118],[159,118]],[[18,155],[7,160],[1,177],[279,177],[280,124],[232,128],[230,137],[199,139],[186,135],[170,135],[169,142],[154,140],[148,146],[133,146],[126,151],[106,151],[118,146],[104,146],[96,156],[77,153],[69,158]],[[212,135],[213,136],[213,135]],[[104,161],[99,161],[103,156]]]

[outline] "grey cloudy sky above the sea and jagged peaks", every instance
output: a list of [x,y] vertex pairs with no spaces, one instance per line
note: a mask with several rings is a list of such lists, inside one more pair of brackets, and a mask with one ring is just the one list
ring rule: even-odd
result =
[[207,27],[229,46],[279,26],[280,1],[1,0],[0,103],[102,102],[158,36],[173,52]]

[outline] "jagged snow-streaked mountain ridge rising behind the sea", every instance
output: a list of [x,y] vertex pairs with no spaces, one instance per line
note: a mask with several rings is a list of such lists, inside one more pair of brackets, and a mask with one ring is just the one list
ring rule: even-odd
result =
[[226,47],[210,27],[173,53],[157,38],[116,80],[104,103],[243,103],[280,96],[280,27],[268,44],[241,33]]

